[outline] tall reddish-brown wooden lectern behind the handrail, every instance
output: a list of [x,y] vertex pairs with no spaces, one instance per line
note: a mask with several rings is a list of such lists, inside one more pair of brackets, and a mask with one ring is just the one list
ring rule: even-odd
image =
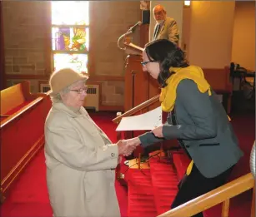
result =
[[[138,47],[132,42],[128,42],[128,40],[124,40],[122,47],[119,47],[128,55],[125,62],[126,70],[124,76],[124,112],[142,104],[144,101],[148,101],[153,96],[158,96],[160,93],[158,81],[153,79],[148,72],[143,72],[141,62],[143,62],[143,47],[148,42],[148,25],[142,25],[140,30],[141,47]],[[126,34],[123,36],[125,37]],[[123,38],[123,36],[120,38]],[[143,111],[139,111],[133,115],[143,114],[158,106],[160,106],[160,102],[156,102]],[[125,131],[124,138],[133,138],[134,136],[141,135],[143,132],[144,131]],[[140,159],[141,153],[143,153],[143,149],[140,146],[133,151],[133,155],[138,157],[138,159]]]

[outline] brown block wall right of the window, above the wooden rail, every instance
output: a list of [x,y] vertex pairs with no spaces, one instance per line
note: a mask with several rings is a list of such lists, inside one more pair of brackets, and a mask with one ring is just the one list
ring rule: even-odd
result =
[[[118,49],[118,37],[141,19],[140,2],[92,2],[93,42],[95,49],[95,74],[123,76],[125,53]],[[138,31],[137,31],[138,32]],[[134,34],[132,35],[135,36]],[[92,48],[92,49],[93,49]]]

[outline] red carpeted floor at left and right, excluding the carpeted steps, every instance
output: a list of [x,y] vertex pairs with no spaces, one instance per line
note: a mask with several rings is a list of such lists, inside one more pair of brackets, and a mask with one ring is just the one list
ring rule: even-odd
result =
[[[93,120],[96,121],[103,131],[105,131],[109,138],[115,142],[116,133],[115,127],[111,121],[114,117],[114,113],[91,113]],[[245,114],[243,116],[232,116],[233,127],[238,135],[241,148],[243,149],[243,159],[239,161],[238,170],[233,172],[231,179],[234,179],[240,175],[248,173],[248,156],[250,154],[253,141],[255,139],[255,116],[254,114]],[[53,213],[49,205],[47,186],[45,180],[46,167],[44,164],[43,150],[33,159],[28,168],[21,175],[18,182],[13,186],[13,190],[10,192],[8,199],[1,206],[1,216],[3,217],[52,217]],[[155,181],[152,191],[157,190],[158,181]],[[123,185],[116,181],[116,190],[118,195],[118,201],[120,205],[121,215],[123,217],[128,216],[128,192]],[[231,216],[248,216],[248,205],[244,204],[244,201],[249,200],[249,193],[247,192],[240,195],[240,200],[235,200],[232,203],[232,215]],[[129,194],[131,194],[129,192]],[[143,200],[143,198],[142,198]],[[160,199],[159,199],[160,200]],[[240,203],[239,201],[243,201]],[[243,204],[243,205],[242,205]],[[158,207],[158,210],[161,210]],[[165,209],[165,208],[164,208]],[[244,209],[247,209],[246,212]],[[154,211],[153,211],[154,212]],[[154,215],[155,213],[153,213]],[[239,214],[239,215],[234,215]],[[242,215],[241,215],[242,214]],[[145,214],[144,214],[145,215]],[[207,216],[215,217],[219,215],[219,206],[214,207],[208,211]],[[138,215],[142,216],[142,215]]]

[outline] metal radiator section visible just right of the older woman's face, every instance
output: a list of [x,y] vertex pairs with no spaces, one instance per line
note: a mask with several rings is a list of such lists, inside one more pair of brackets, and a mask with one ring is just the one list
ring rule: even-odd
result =
[[87,96],[85,97],[83,106],[87,109],[95,109],[98,111],[99,105],[99,85],[88,85]]

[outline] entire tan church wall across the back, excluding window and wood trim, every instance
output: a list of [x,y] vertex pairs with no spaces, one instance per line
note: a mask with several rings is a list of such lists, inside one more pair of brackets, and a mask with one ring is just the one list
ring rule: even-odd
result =
[[[237,2],[234,10],[234,1],[192,1],[190,8],[183,8],[183,1],[152,1],[151,11],[158,3],[166,7],[169,17],[177,20],[181,42],[186,44],[191,64],[223,68],[234,61],[242,67],[254,69],[253,2]],[[141,19],[139,4],[139,1],[93,1],[91,4],[93,36],[90,47],[94,75],[123,77],[125,55],[118,50],[117,40],[129,26]],[[49,74],[50,14],[50,2],[47,1],[3,2],[5,70],[13,76],[8,85],[21,81],[21,76],[30,76],[32,91],[38,91],[38,81]],[[151,16],[150,38],[154,25]],[[137,31],[133,35],[135,43],[138,37]],[[124,81],[99,82],[102,84],[103,105],[123,106]]]

